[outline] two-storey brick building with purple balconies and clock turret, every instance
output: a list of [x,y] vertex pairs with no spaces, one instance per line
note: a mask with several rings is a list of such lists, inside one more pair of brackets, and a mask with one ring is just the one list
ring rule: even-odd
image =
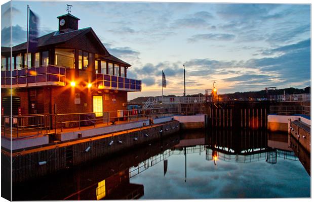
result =
[[[91,27],[78,29],[71,14],[57,17],[59,30],[38,37],[36,53],[27,42],[2,47],[3,114],[90,113],[127,110],[127,92],[141,91],[129,79],[130,64],[111,55]],[[12,74],[12,76],[11,76]],[[11,85],[12,82],[12,85]]]

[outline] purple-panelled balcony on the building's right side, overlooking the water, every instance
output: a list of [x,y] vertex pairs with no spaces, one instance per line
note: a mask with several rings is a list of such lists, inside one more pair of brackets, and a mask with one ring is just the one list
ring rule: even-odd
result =
[[99,89],[124,91],[141,91],[142,89],[142,81],[107,74],[96,74],[95,83]]

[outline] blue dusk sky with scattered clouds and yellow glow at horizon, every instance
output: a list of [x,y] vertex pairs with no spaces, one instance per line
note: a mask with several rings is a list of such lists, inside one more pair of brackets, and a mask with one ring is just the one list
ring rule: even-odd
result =
[[[218,93],[310,85],[309,4],[213,4],[13,1],[13,45],[26,41],[27,4],[40,18],[40,34],[58,29],[57,16],[80,18],[110,54],[130,63],[128,77],[142,80],[128,99],[162,94]],[[10,12],[2,6],[2,19]],[[7,18],[8,19],[8,18]],[[10,45],[2,20],[2,45]],[[8,38],[8,37],[7,37]]]

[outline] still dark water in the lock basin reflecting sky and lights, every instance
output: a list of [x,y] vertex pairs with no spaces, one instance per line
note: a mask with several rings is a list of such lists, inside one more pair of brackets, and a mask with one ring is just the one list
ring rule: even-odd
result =
[[287,134],[188,131],[14,184],[14,200],[310,197],[310,158]]

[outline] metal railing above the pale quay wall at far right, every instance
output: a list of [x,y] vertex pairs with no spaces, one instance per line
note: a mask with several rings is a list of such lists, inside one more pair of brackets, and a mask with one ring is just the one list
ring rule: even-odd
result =
[[310,106],[270,106],[270,114],[278,115],[293,115],[293,114],[303,114],[310,116],[311,107]]

